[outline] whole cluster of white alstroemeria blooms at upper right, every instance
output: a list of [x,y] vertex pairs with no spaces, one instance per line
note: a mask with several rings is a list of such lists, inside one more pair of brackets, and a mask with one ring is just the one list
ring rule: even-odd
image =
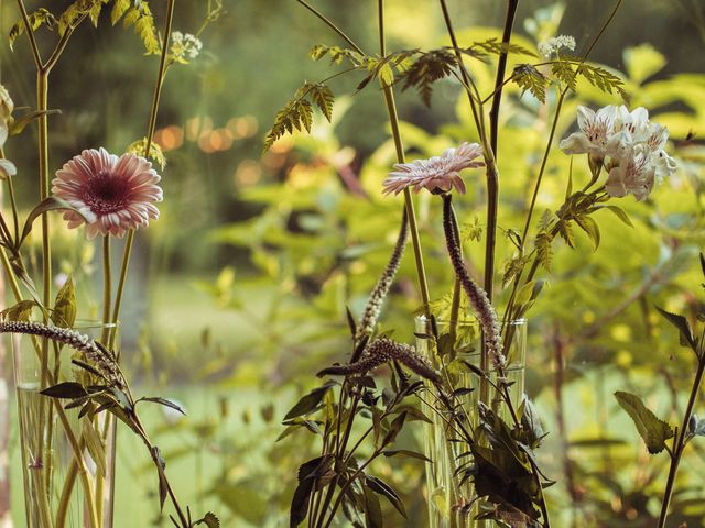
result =
[[560,147],[566,154],[589,154],[603,162],[609,170],[605,188],[610,196],[631,194],[637,201],[646,200],[654,182],[675,172],[675,160],[664,150],[669,130],[651,122],[643,107],[632,112],[623,105],[597,112],[578,107],[577,124],[579,132],[561,141]]

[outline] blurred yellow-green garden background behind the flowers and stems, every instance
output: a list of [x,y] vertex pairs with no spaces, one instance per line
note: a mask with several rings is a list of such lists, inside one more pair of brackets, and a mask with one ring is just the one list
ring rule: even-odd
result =
[[[69,2],[52,3],[58,11]],[[152,7],[158,24],[162,3]],[[315,4],[362,47],[375,48],[376,2]],[[499,36],[503,2],[448,4],[463,42]],[[7,35],[17,7],[0,6]],[[535,48],[549,36],[571,34],[577,52],[584,51],[611,6],[605,0],[522,0],[517,42]],[[174,66],[166,78],[155,136],[169,161],[162,172],[165,200],[159,222],[138,237],[122,319],[123,356],[138,394],[178,399],[188,413],[186,419],[159,409],[149,415],[183,501],[199,512],[218,513],[224,526],[282,526],[296,468],[315,446],[303,432],[274,443],[282,432],[279,422],[297,395],[316,383],[314,373],[344,358],[345,308],[354,314],[362,308],[391,250],[401,202],[381,197],[393,148],[383,99],[375,87],[356,94],[359,79],[330,84],[338,97],[332,124],[318,119],[310,136],[284,139],[262,155],[276,111],[303,80],[335,72],[327,61],[311,61],[311,47],[340,43],[293,0],[225,0],[224,8],[226,13],[202,37],[200,55],[187,66]],[[202,0],[177,2],[174,28],[196,31],[205,10]],[[446,44],[435,2],[389,0],[387,15],[390,50]],[[122,152],[147,132],[158,59],[143,55],[131,30],[111,28],[104,19],[97,30],[82,26],[52,73],[50,107],[62,111],[50,118],[52,172],[83,148]],[[597,252],[579,237],[578,251],[558,248],[554,272],[545,277],[550,286],[530,316],[527,391],[551,431],[541,455],[558,481],[549,495],[562,513],[556,526],[651,526],[658,512],[664,460],[653,459],[653,471],[644,469],[643,446],[618,414],[611,393],[628,387],[665,416],[682,403],[675,394],[687,386],[692,363],[674,345],[653,304],[695,310],[699,302],[692,293],[699,288],[696,255],[705,240],[704,46],[702,0],[626,1],[592,56],[622,73],[632,106],[646,106],[654,120],[669,125],[670,148],[681,169],[648,202],[623,199],[633,228],[608,213],[599,217]],[[14,51],[0,46],[0,61],[1,81],[15,106],[33,107],[34,73],[24,37]],[[491,90],[488,72],[477,66],[485,92]],[[398,97],[412,156],[476,140],[457,82],[441,82],[431,109],[412,90]],[[615,102],[581,86],[566,103],[560,136],[573,125],[578,103]],[[502,232],[521,228],[549,118],[530,95],[507,90],[499,148]],[[690,132],[696,135],[686,141]],[[35,133],[6,145],[18,165],[15,185],[25,204],[36,194]],[[541,212],[560,205],[567,164],[567,156],[552,155]],[[585,177],[583,167],[575,170]],[[462,221],[481,224],[481,182],[468,182],[468,188],[458,204]],[[419,210],[437,298],[451,285],[440,211],[429,197],[420,197]],[[75,232],[57,237],[68,248],[57,266],[76,278],[86,315],[96,315],[91,292],[99,282],[99,249]],[[481,267],[482,246],[469,241],[466,248],[475,272]],[[510,250],[501,240],[500,263]],[[408,255],[383,328],[412,339],[417,307]],[[422,431],[416,429],[408,442],[419,444]],[[17,431],[10,435],[15,449]],[[117,526],[167,526],[159,519],[147,453],[128,433],[121,435],[120,447],[130,455],[118,461]],[[21,526],[14,453],[12,513]],[[704,454],[698,447],[684,468],[674,522],[704,522]],[[424,526],[421,463],[381,461],[377,471],[402,488],[410,510],[410,520],[403,520],[390,508],[389,526]]]

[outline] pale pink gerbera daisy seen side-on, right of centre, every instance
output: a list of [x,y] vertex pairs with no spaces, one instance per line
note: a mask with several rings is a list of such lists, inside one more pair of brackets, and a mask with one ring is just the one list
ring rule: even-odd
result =
[[406,187],[413,188],[414,193],[422,188],[448,191],[455,187],[458,193],[465,194],[465,182],[458,173],[464,168],[484,166],[485,163],[477,160],[481,154],[482,147],[477,143],[463,143],[457,148],[447,148],[440,156],[398,163],[394,165],[397,170],[389,173],[382,184],[383,193],[398,195]]

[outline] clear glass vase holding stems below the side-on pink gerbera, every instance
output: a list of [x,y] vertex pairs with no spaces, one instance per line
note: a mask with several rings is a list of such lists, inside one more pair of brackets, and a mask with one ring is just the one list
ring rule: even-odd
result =
[[[520,319],[509,323],[510,344],[505,344],[507,358],[506,377],[512,382],[509,388],[510,398],[517,407],[521,404],[524,392],[524,360],[527,351],[527,321]],[[416,349],[433,363],[433,365],[448,373],[453,377],[456,388],[469,388],[470,392],[458,396],[459,403],[468,417],[471,427],[477,425],[477,409],[480,400],[481,387],[479,378],[469,369],[463,367],[467,362],[477,367],[480,366],[480,328],[475,319],[462,320],[456,327],[454,354],[455,361],[449,358],[449,349],[444,345],[449,338],[449,324],[447,321],[436,321],[436,330],[440,336],[438,348],[444,355],[440,355],[433,341],[424,336],[433,334],[430,322],[425,317],[415,319],[415,332],[417,336]],[[445,338],[444,338],[445,336]],[[497,373],[489,370],[490,380],[496,382]],[[430,387],[433,391],[432,387]],[[486,402],[505,419],[508,419],[506,405],[496,397],[495,391],[488,392]],[[432,462],[426,464],[426,493],[429,505],[429,528],[489,528],[489,522],[476,520],[476,495],[470,480],[460,484],[458,468],[460,464],[471,462],[467,453],[469,448],[457,435],[447,427],[445,417],[429,408],[425,404],[424,413],[432,420],[424,430],[425,455]]]

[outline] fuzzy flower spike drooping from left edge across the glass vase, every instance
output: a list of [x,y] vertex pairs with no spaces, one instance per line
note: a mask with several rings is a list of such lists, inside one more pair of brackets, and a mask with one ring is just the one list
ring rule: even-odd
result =
[[122,373],[118,369],[113,355],[102,344],[91,340],[88,336],[66,328],[50,327],[41,322],[7,321],[0,322],[0,333],[25,333],[51,339],[57,343],[66,344],[82,352],[91,361],[98,371],[118,387],[127,384]]

